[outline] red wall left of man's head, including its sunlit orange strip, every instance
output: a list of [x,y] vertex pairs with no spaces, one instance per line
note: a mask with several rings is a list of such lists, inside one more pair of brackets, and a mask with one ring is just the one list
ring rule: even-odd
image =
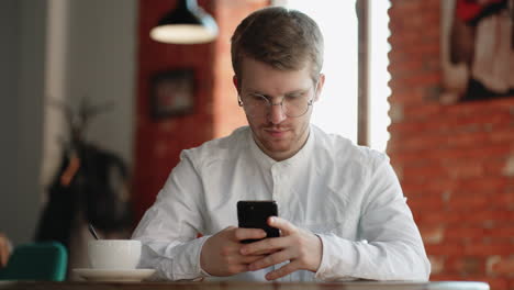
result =
[[[220,36],[210,44],[161,44],[150,29],[176,5],[175,0],[139,0],[137,99],[135,123],[134,201],[136,221],[155,201],[182,149],[231,133],[246,123],[232,86],[230,37],[235,26],[268,0],[199,0],[216,19]],[[154,120],[150,77],[158,71],[194,69],[194,110],[191,114]]]

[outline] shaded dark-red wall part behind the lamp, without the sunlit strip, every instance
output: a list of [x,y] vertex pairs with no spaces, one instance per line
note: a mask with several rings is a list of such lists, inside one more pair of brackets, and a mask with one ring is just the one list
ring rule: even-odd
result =
[[[215,1],[199,4],[213,13]],[[134,201],[137,221],[155,201],[180,150],[213,137],[214,43],[163,44],[149,38],[149,31],[175,0],[139,0],[137,49],[137,99],[135,123]],[[191,114],[154,120],[150,115],[150,77],[158,71],[194,70],[194,110]]]

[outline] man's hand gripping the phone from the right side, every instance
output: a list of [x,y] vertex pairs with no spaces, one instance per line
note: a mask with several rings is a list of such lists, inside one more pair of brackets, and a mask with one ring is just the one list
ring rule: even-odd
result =
[[261,253],[273,253],[252,263],[249,270],[255,271],[289,260],[290,263],[280,269],[268,272],[266,279],[275,280],[297,270],[317,271],[323,254],[323,245],[319,236],[276,216],[269,217],[268,224],[280,228],[281,236],[266,238],[241,248],[241,254],[248,257],[255,257]]

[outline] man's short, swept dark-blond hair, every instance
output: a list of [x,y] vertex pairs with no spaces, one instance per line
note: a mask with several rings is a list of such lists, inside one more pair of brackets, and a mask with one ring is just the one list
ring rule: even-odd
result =
[[311,65],[315,82],[323,67],[323,35],[317,24],[297,10],[270,7],[244,19],[232,36],[232,66],[242,78],[242,62],[250,57],[280,70]]

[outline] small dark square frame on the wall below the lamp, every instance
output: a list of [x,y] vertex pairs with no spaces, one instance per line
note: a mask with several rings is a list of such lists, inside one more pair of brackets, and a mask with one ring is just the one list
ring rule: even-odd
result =
[[157,72],[150,80],[154,119],[188,114],[194,108],[194,72],[176,69]]

